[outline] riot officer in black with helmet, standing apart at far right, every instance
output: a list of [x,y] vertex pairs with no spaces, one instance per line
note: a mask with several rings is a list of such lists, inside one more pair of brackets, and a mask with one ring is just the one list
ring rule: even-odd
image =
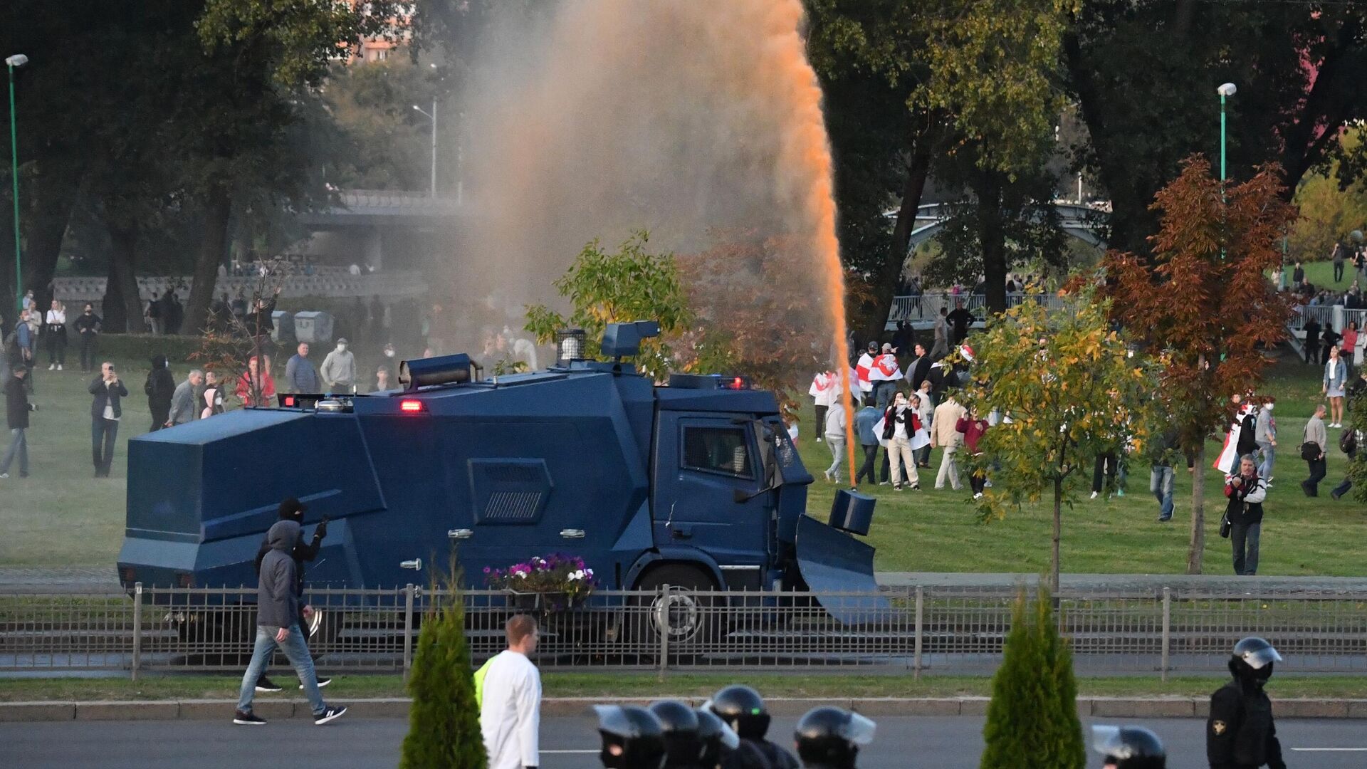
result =
[[1211,769],[1286,769],[1282,762],[1273,703],[1263,684],[1281,654],[1266,640],[1249,636],[1234,644],[1229,672],[1234,679],[1210,698],[1206,720],[1206,759]]

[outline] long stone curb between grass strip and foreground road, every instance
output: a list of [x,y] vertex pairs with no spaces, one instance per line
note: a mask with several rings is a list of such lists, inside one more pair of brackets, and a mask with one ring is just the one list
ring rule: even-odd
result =
[[[589,706],[607,702],[645,705],[668,698],[566,696],[541,701],[543,716],[586,716]],[[693,706],[697,698],[677,698]],[[406,698],[329,699],[346,705],[362,718],[407,718]],[[986,696],[943,698],[782,698],[766,701],[774,716],[801,716],[820,705],[848,707],[868,716],[983,716]],[[228,720],[236,703],[231,699],[163,699],[105,702],[3,702],[0,722],[15,721],[217,721]],[[302,699],[260,699],[254,707],[262,718],[308,718]],[[1367,699],[1275,699],[1273,712],[1281,718],[1367,718]],[[1080,696],[1077,714],[1096,718],[1204,718],[1210,701],[1191,696]]]

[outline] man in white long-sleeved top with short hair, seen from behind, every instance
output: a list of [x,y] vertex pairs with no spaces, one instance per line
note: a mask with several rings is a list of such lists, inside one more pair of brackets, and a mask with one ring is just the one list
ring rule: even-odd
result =
[[541,675],[528,660],[540,635],[528,614],[510,618],[503,632],[509,647],[484,675],[480,732],[489,769],[526,769],[540,765]]

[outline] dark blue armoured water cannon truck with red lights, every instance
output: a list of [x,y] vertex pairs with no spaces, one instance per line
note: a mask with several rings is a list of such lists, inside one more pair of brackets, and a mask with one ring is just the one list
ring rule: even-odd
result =
[[[607,327],[580,360],[481,378],[469,356],[405,361],[402,389],[279,397],[128,442],[119,579],[254,586],[280,499],[324,516],[313,587],[427,584],[452,543],[469,587],[484,568],[582,557],[606,590],[875,592],[874,501],[841,491],[807,516],[812,476],[774,394],[744,376],[675,374],[630,359],[653,322]],[[830,602],[839,617],[848,602]]]

